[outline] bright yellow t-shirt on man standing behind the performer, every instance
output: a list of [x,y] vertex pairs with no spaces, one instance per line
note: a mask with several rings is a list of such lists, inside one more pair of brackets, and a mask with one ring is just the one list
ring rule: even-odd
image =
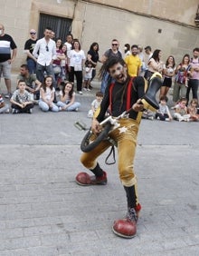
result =
[[141,68],[142,62],[138,55],[134,56],[132,54],[125,58],[125,63],[128,66],[128,74],[130,76],[137,76],[139,69]]

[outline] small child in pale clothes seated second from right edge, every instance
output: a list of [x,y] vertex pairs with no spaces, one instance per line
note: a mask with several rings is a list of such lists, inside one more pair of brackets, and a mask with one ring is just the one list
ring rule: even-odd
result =
[[174,118],[179,122],[185,121],[189,122],[190,114],[187,112],[186,98],[181,98],[178,103],[174,106]]

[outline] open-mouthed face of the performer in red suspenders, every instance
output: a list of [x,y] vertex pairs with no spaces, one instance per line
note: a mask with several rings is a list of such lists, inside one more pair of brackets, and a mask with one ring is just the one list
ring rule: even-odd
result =
[[128,78],[127,66],[122,64],[114,64],[109,68],[109,74],[118,83],[124,83]]

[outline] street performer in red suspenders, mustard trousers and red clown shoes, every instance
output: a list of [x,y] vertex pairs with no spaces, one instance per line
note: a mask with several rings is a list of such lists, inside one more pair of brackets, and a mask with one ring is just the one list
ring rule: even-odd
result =
[[[112,230],[120,237],[132,238],[137,233],[138,213],[141,205],[137,197],[137,176],[134,172],[134,158],[137,147],[137,133],[145,103],[142,97],[147,90],[147,83],[141,76],[130,77],[127,65],[123,59],[110,58],[103,65],[113,81],[108,84],[103,100],[100,104],[100,113],[93,118],[91,131],[94,134],[101,132],[100,122],[104,120],[108,108],[113,117],[130,109],[128,118],[118,119],[119,126],[109,132],[109,137],[118,144],[118,173],[119,179],[127,194],[128,213],[125,219],[113,223]],[[157,90],[156,90],[157,91]],[[156,94],[155,94],[156,96]],[[102,140],[93,150],[82,153],[81,163],[94,175],[80,172],[76,176],[79,185],[106,185],[107,173],[100,168],[97,158],[112,144],[109,140]]]

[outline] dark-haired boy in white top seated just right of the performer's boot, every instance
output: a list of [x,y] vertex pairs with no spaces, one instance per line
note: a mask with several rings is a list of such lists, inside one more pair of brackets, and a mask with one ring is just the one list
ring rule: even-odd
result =
[[155,117],[161,121],[171,121],[172,116],[166,105],[168,98],[166,96],[160,97],[159,109],[157,110]]

